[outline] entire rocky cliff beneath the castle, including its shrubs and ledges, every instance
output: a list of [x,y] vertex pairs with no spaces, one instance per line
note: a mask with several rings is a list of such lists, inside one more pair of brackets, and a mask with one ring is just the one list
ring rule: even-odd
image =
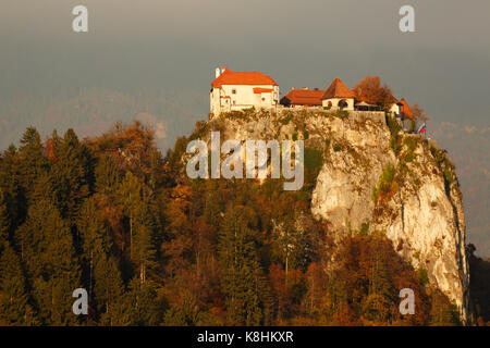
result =
[[465,217],[445,151],[405,133],[381,112],[233,112],[205,128],[220,130],[222,141],[302,139],[305,148],[321,149],[314,216],[339,239],[363,228],[385,233],[396,251],[468,319]]

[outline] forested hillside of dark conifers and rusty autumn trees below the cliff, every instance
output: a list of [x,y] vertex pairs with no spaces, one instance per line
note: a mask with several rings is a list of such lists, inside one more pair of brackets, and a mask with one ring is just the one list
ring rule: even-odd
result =
[[[0,158],[0,324],[461,324],[383,233],[365,225],[339,240],[313,216],[322,152],[306,148],[298,191],[282,179],[192,181],[183,154],[205,130],[163,156],[137,122],[85,140],[69,129],[42,142],[27,128]],[[469,264],[482,324],[488,262]],[[81,287],[89,314],[77,316]],[[415,315],[399,312],[404,287]]]

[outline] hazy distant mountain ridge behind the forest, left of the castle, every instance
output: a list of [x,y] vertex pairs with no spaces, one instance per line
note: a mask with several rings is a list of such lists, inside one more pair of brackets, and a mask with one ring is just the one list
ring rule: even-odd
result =
[[[121,91],[85,88],[63,96],[17,96],[0,103],[0,148],[15,142],[27,126],[35,126],[47,136],[57,128],[63,133],[74,128],[81,138],[100,135],[115,122],[131,123],[142,119],[149,126],[162,129],[157,146],[167,150],[176,137],[192,130],[197,115],[203,114],[197,94],[188,98],[172,91]],[[160,125],[159,125],[160,124]]]

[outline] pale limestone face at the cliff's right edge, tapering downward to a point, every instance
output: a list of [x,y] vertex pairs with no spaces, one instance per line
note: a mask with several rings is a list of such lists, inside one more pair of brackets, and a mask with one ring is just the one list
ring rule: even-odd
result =
[[436,284],[468,313],[469,270],[465,250],[465,217],[457,182],[448,183],[432,160],[419,146],[417,161],[409,169],[419,179],[417,187],[402,186],[389,202],[393,215],[378,221],[393,244],[416,269],[424,268]]

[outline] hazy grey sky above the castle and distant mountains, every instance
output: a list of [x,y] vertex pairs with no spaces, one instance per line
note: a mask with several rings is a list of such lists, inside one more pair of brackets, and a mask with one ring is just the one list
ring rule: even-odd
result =
[[[76,4],[88,34],[72,32]],[[417,33],[399,30],[402,4]],[[2,0],[0,96],[192,90],[206,113],[224,64],[270,74],[282,92],[379,75],[433,120],[488,125],[489,16],[488,0]]]

